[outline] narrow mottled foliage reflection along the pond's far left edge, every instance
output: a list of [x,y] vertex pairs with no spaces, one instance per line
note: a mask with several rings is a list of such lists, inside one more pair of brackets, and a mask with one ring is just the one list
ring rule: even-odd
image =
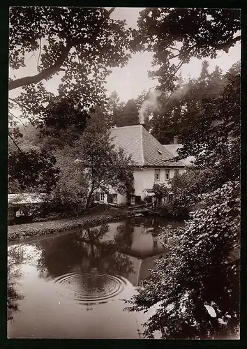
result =
[[24,298],[17,292],[18,279],[21,276],[20,267],[24,261],[22,246],[8,248],[8,315],[7,320],[13,320],[13,313],[19,311],[18,301]]

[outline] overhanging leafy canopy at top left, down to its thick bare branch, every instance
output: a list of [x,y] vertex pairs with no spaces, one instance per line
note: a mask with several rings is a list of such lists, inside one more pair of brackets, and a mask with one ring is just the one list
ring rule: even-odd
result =
[[66,79],[78,73],[80,80],[89,73],[89,68],[100,74],[99,66],[126,64],[129,55],[125,50],[130,31],[124,28],[125,21],[110,18],[113,10],[41,6],[10,8],[10,67],[24,67],[25,54],[29,52],[39,50],[39,57],[38,74],[10,79],[9,89],[37,84],[63,70],[66,70]]

